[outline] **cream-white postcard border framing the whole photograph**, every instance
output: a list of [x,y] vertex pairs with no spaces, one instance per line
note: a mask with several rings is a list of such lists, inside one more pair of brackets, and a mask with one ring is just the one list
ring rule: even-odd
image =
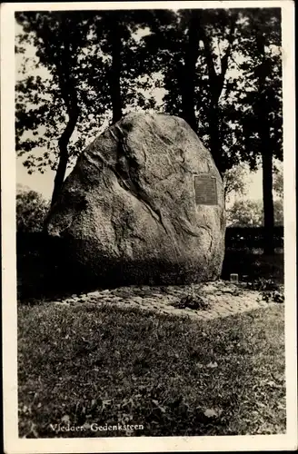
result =
[[[281,7],[283,18],[284,260],[287,433],[216,437],[18,439],[15,269],[15,11],[143,8]],[[289,0],[224,2],[18,3],[1,7],[1,180],[3,274],[3,388],[5,452],[148,452],[293,450],[297,448],[296,220],[294,3]]]

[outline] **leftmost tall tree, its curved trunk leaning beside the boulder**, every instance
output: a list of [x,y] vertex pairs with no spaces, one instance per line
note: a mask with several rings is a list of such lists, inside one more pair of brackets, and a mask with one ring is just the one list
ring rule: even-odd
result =
[[[39,59],[39,64],[47,70],[50,77],[45,81],[40,76],[35,77],[35,84],[33,84],[33,77],[29,75],[25,80],[16,85],[16,91],[25,94],[29,89],[27,97],[23,101],[29,101],[29,104],[37,104],[37,109],[30,109],[32,114],[31,119],[25,118],[24,109],[27,107],[25,103],[17,104],[16,111],[16,135],[17,135],[17,150],[24,152],[24,147],[31,148],[32,145],[42,145],[45,142],[36,142],[35,140],[25,139],[21,140],[21,136],[27,129],[35,130],[34,135],[38,135],[38,127],[45,124],[45,121],[53,127],[55,124],[55,108],[56,105],[49,105],[51,101],[56,98],[59,99],[58,105],[61,102],[64,104],[66,118],[61,118],[58,115],[56,121],[65,120],[65,127],[60,133],[58,139],[58,163],[56,164],[55,184],[52,197],[52,204],[55,203],[56,198],[60,192],[62,184],[65,179],[66,167],[69,159],[69,142],[75,131],[75,126],[79,119],[80,107],[78,101],[78,68],[79,68],[79,54],[86,41],[89,24],[87,18],[82,15],[75,15],[71,12],[61,13],[20,13],[16,14],[17,22],[23,26],[25,35],[22,36],[22,44],[25,44],[32,38],[32,44],[37,49],[36,57]],[[53,87],[51,90],[51,82]],[[32,86],[33,85],[33,86]],[[45,98],[45,104],[35,102],[36,91],[42,91],[45,87],[48,89],[50,96]],[[31,89],[31,90],[30,90]],[[52,98],[52,99],[51,99]],[[36,112],[37,111],[37,112]],[[34,119],[35,114],[39,114]],[[46,114],[43,116],[43,114]],[[29,127],[28,127],[29,126]],[[48,124],[47,124],[48,126]],[[55,131],[48,131],[48,138],[55,137]],[[44,157],[49,158],[49,153],[45,152]],[[37,161],[40,158],[37,158]],[[41,158],[42,159],[42,158]],[[28,161],[27,165],[30,167],[35,163],[34,157],[31,162]]]

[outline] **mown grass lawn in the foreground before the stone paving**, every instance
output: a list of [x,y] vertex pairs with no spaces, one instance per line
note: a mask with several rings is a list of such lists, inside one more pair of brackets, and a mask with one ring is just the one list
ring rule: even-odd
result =
[[18,326],[20,437],[285,432],[283,305],[197,322],[44,303],[20,305]]

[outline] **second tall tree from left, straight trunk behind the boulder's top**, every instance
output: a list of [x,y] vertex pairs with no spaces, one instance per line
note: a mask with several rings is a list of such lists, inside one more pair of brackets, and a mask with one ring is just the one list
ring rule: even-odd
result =
[[93,42],[97,54],[93,57],[93,65],[96,66],[96,59],[101,60],[103,55],[104,65],[101,60],[102,74],[94,80],[90,78],[89,83],[97,86],[100,94],[104,80],[108,96],[106,108],[112,111],[112,123],[120,120],[133,104],[146,108],[142,91],[147,87],[138,81],[138,77],[148,71],[139,53],[143,43],[138,40],[138,34],[144,30],[149,16],[149,12],[142,10],[102,11],[94,15]]

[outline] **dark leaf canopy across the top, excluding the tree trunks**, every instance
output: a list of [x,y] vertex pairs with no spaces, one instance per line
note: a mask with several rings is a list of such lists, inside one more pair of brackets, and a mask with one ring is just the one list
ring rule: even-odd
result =
[[[256,165],[259,153],[257,132],[253,133],[258,126],[256,78],[258,64],[263,62],[255,39],[251,38],[254,30],[266,33],[265,64],[268,67],[263,95],[271,121],[275,122],[272,129],[274,150],[281,157],[278,10],[23,13],[16,19],[23,26],[23,33],[18,35],[17,52],[24,54],[26,44],[34,45],[37,50],[35,65],[33,59],[25,58],[23,70],[30,75],[16,87],[19,97],[16,104],[17,147],[20,152],[32,149],[39,141],[41,146],[52,143],[58,135],[59,125],[61,129],[61,124],[65,123],[65,97],[59,85],[58,69],[64,57],[65,32],[61,25],[67,23],[71,50],[69,73],[75,82],[80,111],[78,137],[83,132],[84,136],[89,132],[92,136],[94,127],[112,116],[111,27],[117,26],[121,37],[119,102],[124,111],[154,108],[156,99],[150,92],[162,89],[164,111],[185,117],[185,110],[190,106],[188,109],[194,111],[197,131],[207,146],[214,140],[215,130],[211,129],[214,112],[211,111],[216,111],[224,169],[231,168],[239,160],[247,160],[252,167]],[[48,77],[32,75],[40,65],[46,68]],[[189,91],[189,84],[193,84],[194,93]],[[33,104],[35,107],[27,107],[24,111],[25,99],[29,101],[27,106]],[[37,134],[41,124],[46,126],[46,132]],[[26,131],[35,131],[35,139],[20,141]],[[42,135],[44,141],[39,136],[37,140],[37,135]],[[71,153],[79,153],[83,144],[74,143]],[[34,162],[30,161],[30,165]]]

